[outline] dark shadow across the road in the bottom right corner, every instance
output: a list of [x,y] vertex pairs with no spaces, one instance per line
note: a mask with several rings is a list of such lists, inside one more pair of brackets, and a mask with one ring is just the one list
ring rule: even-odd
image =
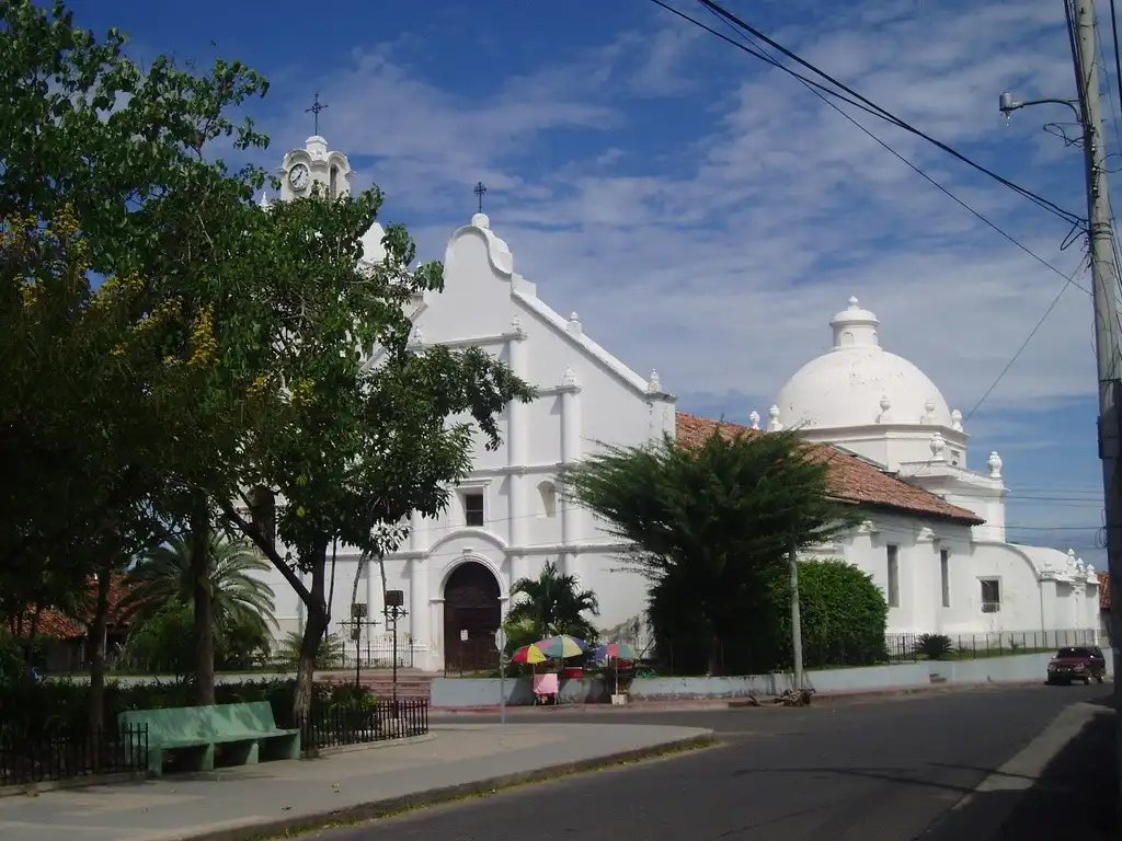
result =
[[1115,819],[1113,702],[1104,697],[1087,703],[1109,709],[1088,720],[1030,787],[1012,779],[1008,788],[975,792],[923,838],[1116,841],[1122,837]]

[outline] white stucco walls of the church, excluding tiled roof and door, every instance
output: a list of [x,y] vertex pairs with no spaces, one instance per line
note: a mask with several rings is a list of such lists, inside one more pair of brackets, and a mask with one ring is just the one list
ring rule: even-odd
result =
[[[294,153],[287,160],[310,159],[312,151]],[[333,154],[327,153],[322,163],[315,161],[318,172]],[[443,293],[426,295],[420,304],[414,318],[414,349],[423,352],[425,345],[434,343],[484,348],[534,385],[540,396],[530,405],[508,407],[500,424],[502,445],[495,452],[477,446],[475,469],[457,489],[449,510],[432,520],[414,517],[407,544],[385,561],[388,589],[405,593],[408,614],[399,630],[412,637],[414,665],[429,669],[443,664],[444,585],[466,562],[480,563],[491,571],[504,612],[512,583],[536,576],[552,560],[597,594],[600,627],[642,613],[646,582],[618,569],[620,547],[588,512],[565,503],[557,493],[558,477],[594,452],[597,442],[641,444],[664,432],[673,433],[675,423],[674,398],[662,390],[656,375],[645,378],[629,370],[583,334],[576,313],[561,315],[545,305],[535,285],[517,274],[511,249],[490,230],[485,215],[477,214],[471,224],[452,235],[444,270]],[[873,331],[872,342],[876,339],[875,316],[870,316],[861,311],[846,317],[856,318],[857,327]],[[855,329],[848,322],[842,326]],[[842,339],[846,330],[840,330]],[[835,355],[843,359],[846,353]],[[819,423],[806,429],[808,436],[858,452],[888,469],[900,469],[909,481],[975,511],[988,523],[972,530],[968,525],[946,520],[871,512],[852,535],[808,555],[843,557],[870,573],[888,592],[888,547],[895,546],[896,598],[889,611],[891,634],[1096,628],[1097,581],[1093,571],[1080,567],[1074,556],[1054,549],[1003,543],[1005,487],[1000,459],[991,456],[990,470],[968,471],[962,415],[949,413],[938,390],[932,391],[934,383],[910,363],[891,354],[866,355],[870,359],[865,361],[876,366],[858,389],[859,410],[842,412],[833,403],[822,404],[820,378],[801,390],[785,388],[788,404],[821,409],[811,413]],[[884,383],[898,388],[893,400],[883,399]],[[908,383],[919,383],[916,388],[922,387],[922,394],[908,391]],[[776,419],[788,422],[779,409],[775,412]],[[827,415],[836,415],[836,423]],[[848,425],[837,425],[843,422]],[[466,525],[463,492],[484,495],[481,527]],[[356,553],[340,547],[332,603],[334,630],[341,630],[340,622],[349,619],[356,569]],[[992,612],[982,608],[984,579],[1000,582],[1000,609]],[[278,573],[269,573],[267,581],[276,593],[282,632],[300,629],[302,608],[295,593]],[[358,598],[368,606],[369,617],[380,621],[377,564],[364,572]],[[386,645],[383,627],[368,632],[376,645]]]

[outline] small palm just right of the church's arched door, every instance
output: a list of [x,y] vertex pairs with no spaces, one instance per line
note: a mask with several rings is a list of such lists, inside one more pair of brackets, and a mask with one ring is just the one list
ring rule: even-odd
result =
[[[508,629],[532,631],[533,639],[568,634],[595,641],[596,627],[585,613],[599,616],[596,593],[581,590],[576,575],[564,575],[553,561],[548,561],[536,579],[519,579],[511,588],[511,599],[522,597],[506,614]],[[509,632],[509,631],[508,631]],[[533,640],[531,640],[533,641]]]

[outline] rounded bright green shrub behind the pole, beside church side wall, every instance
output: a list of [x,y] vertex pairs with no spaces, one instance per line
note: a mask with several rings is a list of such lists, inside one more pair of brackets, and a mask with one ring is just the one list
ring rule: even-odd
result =
[[[775,582],[782,604],[785,663],[791,663],[791,598],[787,577]],[[871,575],[839,558],[799,564],[802,660],[808,667],[884,663],[889,606]]]

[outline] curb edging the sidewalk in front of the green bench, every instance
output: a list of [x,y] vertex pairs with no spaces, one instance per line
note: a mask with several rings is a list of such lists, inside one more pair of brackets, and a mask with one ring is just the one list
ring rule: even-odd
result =
[[174,838],[174,841],[267,841],[268,839],[286,838],[292,833],[324,829],[333,824],[375,821],[399,812],[438,806],[484,794],[496,794],[505,788],[513,788],[519,785],[544,783],[549,779],[557,779],[571,774],[600,770],[641,759],[654,759],[666,754],[675,754],[693,748],[708,748],[716,743],[717,740],[712,730],[705,730],[697,736],[671,739],[670,741],[657,742],[656,745],[620,750],[615,754],[605,754],[589,759],[560,763],[558,765],[545,766],[544,768],[535,768],[534,770],[503,774],[485,779],[471,780],[470,783],[433,788],[427,792],[416,792],[399,797],[387,797],[380,801],[359,803],[343,808],[315,812],[307,815],[295,815],[287,819],[280,817],[245,826],[223,828],[191,835],[168,837],[168,839]]

